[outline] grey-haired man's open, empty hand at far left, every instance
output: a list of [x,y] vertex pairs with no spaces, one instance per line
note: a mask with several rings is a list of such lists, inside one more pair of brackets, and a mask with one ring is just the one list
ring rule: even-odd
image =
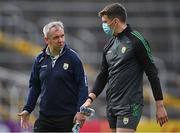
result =
[[28,111],[24,110],[21,113],[18,113],[18,116],[21,117],[21,128],[27,129],[29,128],[29,117],[30,114]]

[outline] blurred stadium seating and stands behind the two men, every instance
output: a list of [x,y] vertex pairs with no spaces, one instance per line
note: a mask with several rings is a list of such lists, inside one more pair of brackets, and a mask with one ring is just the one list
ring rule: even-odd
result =
[[[169,115],[169,123],[160,128],[155,120],[151,88],[144,76],[144,110],[137,131],[180,132],[179,0],[0,0],[0,131],[25,131],[19,127],[17,113],[27,99],[34,58],[45,46],[42,28],[50,21],[64,23],[66,42],[79,53],[91,89],[108,40],[97,13],[113,2],[126,7],[128,23],[150,43]],[[31,124],[37,118],[38,104]],[[109,131],[105,90],[93,108],[95,116],[81,131]]]

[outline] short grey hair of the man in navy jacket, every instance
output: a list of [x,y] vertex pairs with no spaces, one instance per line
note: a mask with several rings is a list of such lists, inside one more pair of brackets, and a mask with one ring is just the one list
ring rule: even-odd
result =
[[61,21],[53,21],[53,22],[50,22],[48,24],[46,24],[43,28],[43,34],[44,34],[44,37],[47,37],[47,34],[49,32],[49,30],[52,28],[52,27],[56,27],[56,26],[59,26],[61,27],[62,29],[64,29],[64,26],[63,26],[63,23]]

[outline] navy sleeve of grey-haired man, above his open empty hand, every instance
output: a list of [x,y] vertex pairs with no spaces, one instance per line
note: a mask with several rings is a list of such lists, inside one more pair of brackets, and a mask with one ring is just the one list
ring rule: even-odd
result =
[[31,113],[34,110],[37,99],[40,95],[40,90],[41,90],[37,62],[38,61],[36,59],[32,67],[31,76],[29,80],[30,90],[29,90],[29,94],[27,98],[27,103],[23,108],[23,110],[26,110],[29,113]]

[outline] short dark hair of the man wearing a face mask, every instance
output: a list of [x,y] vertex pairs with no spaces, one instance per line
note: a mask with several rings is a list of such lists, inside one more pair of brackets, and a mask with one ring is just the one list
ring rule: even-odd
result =
[[108,18],[111,20],[117,17],[122,22],[126,22],[126,18],[127,18],[126,9],[120,3],[113,3],[105,6],[105,8],[98,13],[98,15],[100,17],[107,15]]

